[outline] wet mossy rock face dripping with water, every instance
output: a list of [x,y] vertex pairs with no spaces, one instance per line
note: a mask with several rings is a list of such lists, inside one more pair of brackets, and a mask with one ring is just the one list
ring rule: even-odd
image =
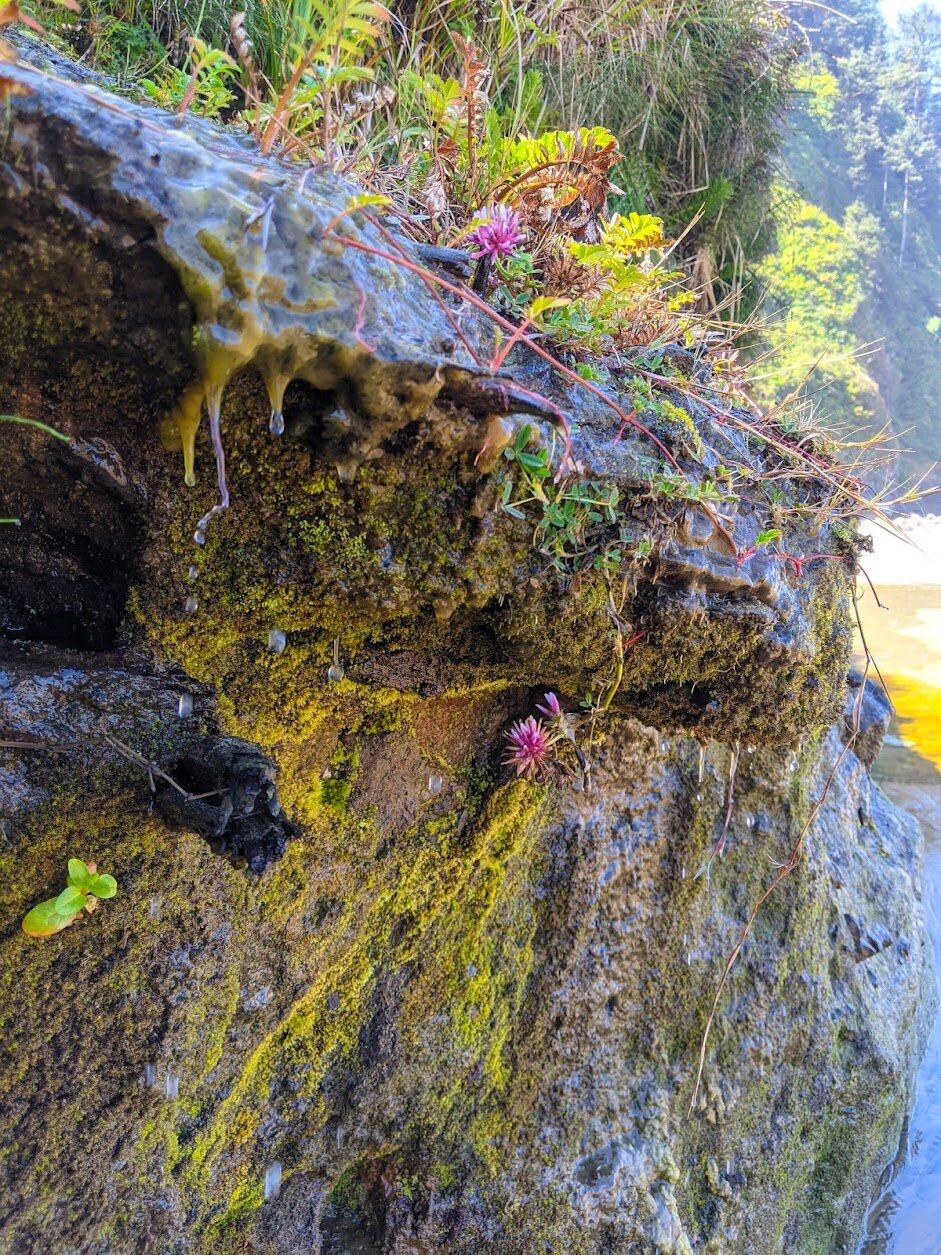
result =
[[[494,375],[329,176],[0,88],[0,408],[68,437],[0,427],[0,1250],[852,1250],[933,1007],[828,484],[775,558],[701,364]],[[118,897],[25,937],[69,857]]]

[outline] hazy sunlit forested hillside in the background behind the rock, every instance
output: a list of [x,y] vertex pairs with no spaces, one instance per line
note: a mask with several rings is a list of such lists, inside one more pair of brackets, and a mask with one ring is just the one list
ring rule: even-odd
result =
[[842,430],[891,422],[902,473],[921,474],[941,459],[941,13],[923,5],[888,30],[876,0],[838,8],[788,9],[809,51],[777,247],[755,270],[773,350],[758,388],[767,400],[802,388]]

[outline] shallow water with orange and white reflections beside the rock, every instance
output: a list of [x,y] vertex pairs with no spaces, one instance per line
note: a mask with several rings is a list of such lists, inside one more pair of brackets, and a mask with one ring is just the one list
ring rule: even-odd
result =
[[[867,594],[861,614],[897,713],[873,774],[925,832],[925,915],[941,973],[941,518],[908,526],[915,550],[876,538],[866,566],[887,609]],[[941,1017],[859,1255],[941,1255]]]

